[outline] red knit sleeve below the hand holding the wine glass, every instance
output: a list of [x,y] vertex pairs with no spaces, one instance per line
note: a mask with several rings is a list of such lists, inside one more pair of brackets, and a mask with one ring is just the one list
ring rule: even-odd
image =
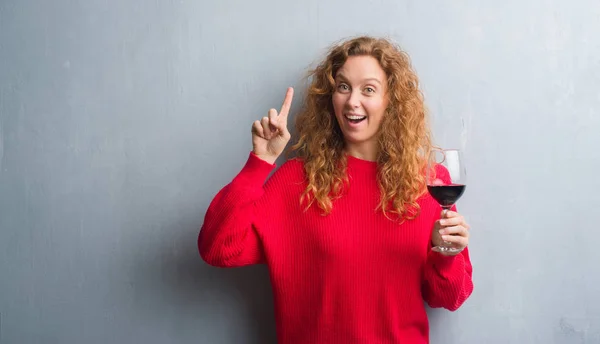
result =
[[423,296],[432,308],[457,310],[473,292],[469,250],[455,256],[429,251],[425,263]]

